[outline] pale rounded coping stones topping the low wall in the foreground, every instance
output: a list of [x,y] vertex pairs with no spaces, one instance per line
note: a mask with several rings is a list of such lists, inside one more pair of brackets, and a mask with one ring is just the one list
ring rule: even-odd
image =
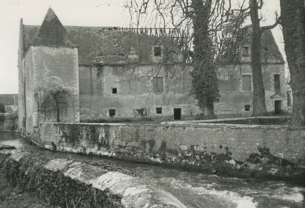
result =
[[[20,150],[0,150],[0,154],[9,154],[9,159],[19,162],[27,157],[29,152]],[[59,171],[64,176],[80,181],[86,185],[121,198],[124,207],[183,207],[176,197],[160,189],[157,185],[139,177],[123,173],[107,171],[103,168],[74,162],[68,159],[49,161],[45,169]],[[52,180],[49,181],[52,183]],[[62,196],[59,196],[62,197]]]

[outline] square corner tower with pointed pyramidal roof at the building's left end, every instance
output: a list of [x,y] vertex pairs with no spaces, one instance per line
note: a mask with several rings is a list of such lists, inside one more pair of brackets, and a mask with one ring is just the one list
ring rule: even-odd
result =
[[77,46],[52,9],[28,45],[23,35],[20,30],[20,133],[33,136],[38,122],[79,122]]

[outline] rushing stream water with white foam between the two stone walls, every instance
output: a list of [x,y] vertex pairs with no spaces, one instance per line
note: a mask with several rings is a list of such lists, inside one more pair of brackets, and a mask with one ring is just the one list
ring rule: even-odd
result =
[[41,151],[50,156],[59,154],[92,162],[104,160],[127,170],[138,170],[144,179],[170,192],[187,207],[305,207],[305,186],[289,182],[220,177],[143,163],[39,150],[11,132],[0,133],[0,143]]

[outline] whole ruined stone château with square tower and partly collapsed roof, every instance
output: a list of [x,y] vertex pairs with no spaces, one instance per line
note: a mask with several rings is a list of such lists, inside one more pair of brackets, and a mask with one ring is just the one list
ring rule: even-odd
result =
[[[284,60],[271,31],[264,32],[262,45],[267,110],[285,112]],[[243,45],[239,63],[219,66],[219,117],[251,115],[250,47]],[[146,29],[63,26],[49,8],[41,25],[21,19],[18,59],[24,135],[35,133],[39,122],[185,119],[198,113],[189,95],[192,64],[179,41]]]

